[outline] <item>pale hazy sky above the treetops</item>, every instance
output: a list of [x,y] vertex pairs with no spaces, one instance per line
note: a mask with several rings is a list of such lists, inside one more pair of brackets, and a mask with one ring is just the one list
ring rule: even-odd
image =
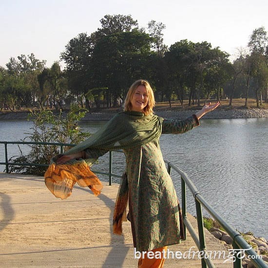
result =
[[72,38],[90,35],[101,18],[117,14],[144,28],[162,22],[168,47],[182,39],[207,41],[234,57],[254,29],[268,31],[267,11],[268,0],[0,0],[0,66],[33,53],[51,67]]

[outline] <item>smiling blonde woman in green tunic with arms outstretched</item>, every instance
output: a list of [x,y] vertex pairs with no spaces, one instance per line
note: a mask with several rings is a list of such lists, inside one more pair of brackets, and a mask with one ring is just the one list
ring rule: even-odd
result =
[[[110,149],[123,149],[126,170],[115,204],[114,232],[120,234],[127,200],[136,251],[165,252],[168,245],[180,243],[178,199],[159,146],[165,133],[184,133],[199,125],[199,119],[215,109],[205,105],[185,120],[167,120],[153,114],[153,90],[146,80],[138,80],[130,87],[124,111],[117,114],[94,137],[55,159],[57,165],[74,159],[86,159],[91,165]],[[95,185],[94,185],[95,183]],[[91,183],[94,189],[97,183]],[[88,184],[89,185],[89,184]],[[164,250],[164,251],[163,251]],[[144,254],[138,267],[163,267],[161,258]],[[151,255],[152,256],[152,255]]]

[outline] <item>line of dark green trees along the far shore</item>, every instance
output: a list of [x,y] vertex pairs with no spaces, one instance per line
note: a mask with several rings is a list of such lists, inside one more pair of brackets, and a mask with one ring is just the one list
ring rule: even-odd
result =
[[[50,68],[32,53],[0,67],[0,109],[55,107],[77,103],[117,107],[137,79],[150,81],[157,102],[179,100],[191,106],[201,99],[256,98],[268,102],[268,34],[255,29],[247,49],[231,63],[229,54],[207,41],[187,39],[164,44],[162,22],[140,28],[131,15],[106,15],[101,28],[72,38]],[[187,101],[185,101],[187,100]]]

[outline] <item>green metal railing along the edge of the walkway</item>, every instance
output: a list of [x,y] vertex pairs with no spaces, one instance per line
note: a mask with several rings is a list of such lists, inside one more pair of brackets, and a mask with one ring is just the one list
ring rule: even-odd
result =
[[[0,162],[0,165],[6,166],[6,172],[8,173],[8,167],[10,165],[36,165],[36,166],[48,166],[48,164],[38,164],[38,163],[16,163],[8,161],[7,154],[7,144],[44,144],[44,145],[57,145],[60,146],[60,152],[63,152],[64,146],[74,146],[75,144],[68,143],[30,143],[30,142],[0,142],[0,144],[4,144],[5,147],[5,162]],[[122,152],[122,150],[115,150],[109,152],[109,172],[100,172],[94,171],[95,173],[106,175],[109,177],[109,185],[112,185],[112,177],[121,178],[121,176],[117,174],[113,174],[113,152]],[[247,256],[250,256],[251,261],[257,268],[268,268],[266,263],[262,260],[262,258],[252,249],[251,246],[247,243],[247,241],[242,237],[242,235],[234,230],[227,222],[224,220],[210,205],[208,201],[204,197],[201,196],[191,179],[188,178],[187,174],[174,166],[171,162],[165,161],[167,164],[168,173],[171,175],[171,170],[174,170],[181,178],[181,197],[182,197],[182,216],[183,216],[183,226],[184,233],[186,238],[186,228],[191,234],[192,239],[194,240],[198,250],[203,252],[201,255],[201,265],[202,268],[214,268],[215,266],[212,263],[211,258],[209,257],[208,250],[206,248],[206,240],[205,240],[205,232],[204,232],[204,223],[203,223],[203,213],[202,206],[206,209],[206,211],[223,227],[223,229],[230,235],[232,239],[232,247],[233,247],[233,267],[241,268],[242,267],[242,258],[241,252],[245,253]],[[187,205],[186,205],[186,186],[190,189],[194,201],[195,201],[195,209],[197,216],[197,226],[198,233],[196,233],[195,229],[192,227],[191,222],[187,218]]]

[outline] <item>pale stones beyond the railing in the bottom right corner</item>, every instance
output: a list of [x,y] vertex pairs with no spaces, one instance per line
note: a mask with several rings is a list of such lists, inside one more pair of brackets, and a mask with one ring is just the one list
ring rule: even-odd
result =
[[[224,232],[218,228],[211,228],[209,230],[217,239],[222,241],[224,244],[231,245],[232,239],[227,232]],[[264,237],[255,237],[252,233],[242,234],[243,238],[249,243],[253,250],[257,252],[258,255],[262,256],[265,262],[268,262],[268,242]],[[254,268],[254,264],[249,259],[243,259],[243,267]]]

